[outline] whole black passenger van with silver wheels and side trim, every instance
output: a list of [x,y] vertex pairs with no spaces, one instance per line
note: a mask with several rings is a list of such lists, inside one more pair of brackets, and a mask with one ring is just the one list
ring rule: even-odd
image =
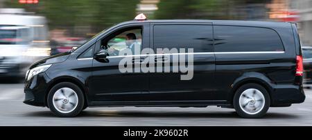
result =
[[[123,53],[133,48],[145,52]],[[134,20],[33,63],[24,103],[58,117],[97,106],[220,106],[258,118],[304,101],[302,72],[295,23]]]

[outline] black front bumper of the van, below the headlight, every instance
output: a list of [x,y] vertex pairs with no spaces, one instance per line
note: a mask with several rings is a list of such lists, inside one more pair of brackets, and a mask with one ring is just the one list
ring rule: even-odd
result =
[[49,79],[45,72],[35,75],[29,81],[25,81],[24,103],[31,106],[46,106],[46,93],[49,81],[51,79]]

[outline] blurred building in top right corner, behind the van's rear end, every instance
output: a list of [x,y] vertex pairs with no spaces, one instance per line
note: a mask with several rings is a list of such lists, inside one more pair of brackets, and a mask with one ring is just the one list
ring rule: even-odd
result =
[[289,1],[289,7],[298,11],[302,45],[312,46],[312,0]]

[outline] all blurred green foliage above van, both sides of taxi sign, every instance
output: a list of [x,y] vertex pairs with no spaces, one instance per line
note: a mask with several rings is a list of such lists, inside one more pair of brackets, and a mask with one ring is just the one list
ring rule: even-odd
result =
[[[25,8],[42,14],[49,27],[91,27],[99,32],[108,26],[132,20],[141,0],[40,0],[38,4],[19,4],[6,0],[10,8]],[[239,19],[231,12],[235,6],[246,3],[263,3],[268,0],[160,0],[158,10],[148,19]]]

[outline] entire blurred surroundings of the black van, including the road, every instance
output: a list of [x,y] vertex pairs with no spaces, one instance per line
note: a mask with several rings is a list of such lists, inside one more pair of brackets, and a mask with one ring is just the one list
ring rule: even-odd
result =
[[25,106],[29,65],[80,46],[116,23],[148,19],[235,19],[297,23],[306,88],[312,87],[312,0],[0,0],[0,126],[311,126],[312,90],[290,108],[270,108],[266,119],[241,119],[231,109],[89,108],[58,118]]

